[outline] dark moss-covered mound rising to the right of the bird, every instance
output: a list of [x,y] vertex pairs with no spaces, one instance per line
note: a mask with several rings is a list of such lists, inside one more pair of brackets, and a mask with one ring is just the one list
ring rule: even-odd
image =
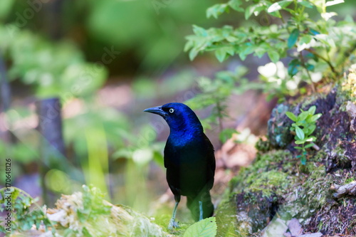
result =
[[[220,236],[260,236],[273,216],[286,221],[298,218],[304,230],[312,233],[356,235],[355,196],[336,199],[330,189],[356,177],[356,136],[345,108],[347,101],[356,102],[356,67],[343,83],[329,88],[276,107],[269,140],[258,142],[256,160],[231,180],[216,211],[216,219],[223,220],[218,222]],[[315,130],[320,149],[309,149],[308,161],[302,165],[293,137],[285,134],[289,130],[276,129],[276,125],[288,127],[278,111],[282,106],[283,111],[298,113],[313,105],[323,113]]]

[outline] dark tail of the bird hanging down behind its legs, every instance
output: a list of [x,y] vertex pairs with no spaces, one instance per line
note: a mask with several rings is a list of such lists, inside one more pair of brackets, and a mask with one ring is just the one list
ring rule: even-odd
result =
[[199,201],[202,202],[203,206],[203,218],[208,218],[214,214],[214,205],[211,202],[211,196],[209,191],[205,191],[203,194],[198,196],[187,196],[187,206],[192,212],[192,216],[195,221],[199,221]]

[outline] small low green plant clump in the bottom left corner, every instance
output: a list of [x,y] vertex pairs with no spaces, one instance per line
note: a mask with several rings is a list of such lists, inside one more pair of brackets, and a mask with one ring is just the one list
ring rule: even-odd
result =
[[[48,227],[53,227],[53,223],[46,216],[46,208],[38,206],[38,199],[33,199],[25,191],[16,187],[11,187],[11,193],[6,188],[0,189],[0,211],[8,212],[7,206],[11,209],[11,231],[28,231],[32,226],[38,229],[43,224],[47,230]],[[11,197],[11,205],[8,204]],[[3,221],[1,221],[3,222]],[[6,227],[1,223],[0,232],[7,233]],[[53,232],[55,231],[52,228]]]

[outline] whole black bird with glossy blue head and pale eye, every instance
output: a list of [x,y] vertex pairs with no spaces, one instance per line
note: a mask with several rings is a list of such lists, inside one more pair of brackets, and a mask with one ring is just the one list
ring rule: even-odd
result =
[[187,196],[187,206],[195,221],[212,216],[214,206],[209,191],[214,184],[214,147],[197,115],[187,105],[176,102],[144,111],[162,116],[170,128],[164,167],[176,204],[168,228],[177,227],[174,219],[181,195]]

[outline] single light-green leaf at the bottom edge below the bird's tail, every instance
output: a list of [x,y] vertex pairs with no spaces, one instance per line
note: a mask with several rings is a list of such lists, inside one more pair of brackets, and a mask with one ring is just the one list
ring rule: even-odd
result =
[[215,217],[205,218],[189,226],[183,237],[214,237],[216,228]]

